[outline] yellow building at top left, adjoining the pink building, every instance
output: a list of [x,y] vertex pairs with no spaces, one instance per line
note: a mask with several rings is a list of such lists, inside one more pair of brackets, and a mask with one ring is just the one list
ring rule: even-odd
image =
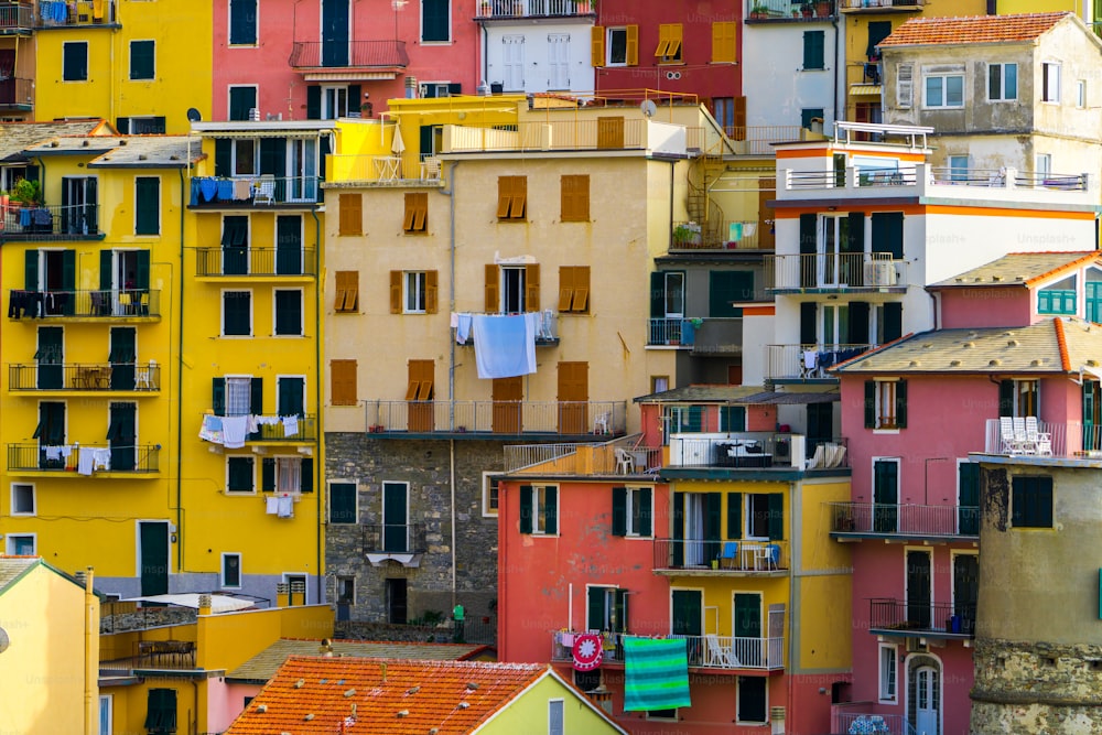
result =
[[[106,117],[122,133],[183,133],[210,117],[213,6],[40,0],[34,116]],[[2,46],[0,46],[2,47]]]

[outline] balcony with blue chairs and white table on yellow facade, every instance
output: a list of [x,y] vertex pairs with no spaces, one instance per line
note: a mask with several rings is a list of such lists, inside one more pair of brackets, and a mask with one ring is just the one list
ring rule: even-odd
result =
[[655,539],[656,574],[667,576],[785,576],[788,541]]

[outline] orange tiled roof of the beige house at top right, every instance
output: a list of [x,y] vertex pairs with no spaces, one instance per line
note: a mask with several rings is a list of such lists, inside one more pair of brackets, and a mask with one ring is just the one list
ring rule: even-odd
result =
[[880,41],[879,45],[883,48],[938,43],[960,45],[1033,41],[1068,15],[1072,13],[912,18]]

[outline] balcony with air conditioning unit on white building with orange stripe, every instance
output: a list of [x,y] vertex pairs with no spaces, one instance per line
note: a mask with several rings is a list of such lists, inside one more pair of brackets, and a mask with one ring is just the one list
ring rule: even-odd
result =
[[867,293],[907,289],[907,262],[888,252],[767,256],[773,293]]

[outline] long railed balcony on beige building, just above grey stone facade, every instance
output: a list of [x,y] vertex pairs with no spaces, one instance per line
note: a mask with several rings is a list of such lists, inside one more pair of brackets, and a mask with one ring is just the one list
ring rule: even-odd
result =
[[365,401],[368,432],[380,439],[433,434],[450,439],[622,436],[624,401]]

